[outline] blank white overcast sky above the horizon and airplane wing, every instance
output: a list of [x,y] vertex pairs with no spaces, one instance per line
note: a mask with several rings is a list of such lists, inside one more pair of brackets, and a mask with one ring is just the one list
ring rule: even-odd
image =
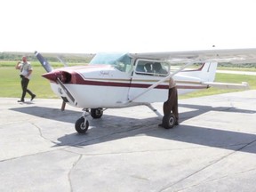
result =
[[256,48],[255,0],[1,0],[0,52]]

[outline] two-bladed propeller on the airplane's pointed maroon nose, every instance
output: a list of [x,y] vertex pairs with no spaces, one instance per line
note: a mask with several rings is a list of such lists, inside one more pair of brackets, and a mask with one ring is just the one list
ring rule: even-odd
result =
[[[35,55],[36,55],[37,60],[40,61],[41,65],[47,71],[47,74],[45,74],[43,76],[45,78],[48,77],[48,79],[50,79],[50,76],[51,76],[51,78],[52,78],[52,76],[55,76],[56,77],[55,80],[56,80],[57,84],[60,84],[60,87],[66,93],[66,95],[68,96],[68,99],[71,100],[73,103],[75,103],[75,105],[77,105],[77,102],[76,102],[75,98],[73,97],[73,95],[71,94],[71,92],[69,92],[68,88],[61,82],[60,77],[57,75],[58,73],[52,72],[53,68],[50,65],[50,63],[47,60],[45,60],[44,57],[39,52],[35,52]],[[52,79],[50,79],[50,80],[52,80]],[[63,100],[61,110],[65,109],[65,104],[66,104],[66,102]]]

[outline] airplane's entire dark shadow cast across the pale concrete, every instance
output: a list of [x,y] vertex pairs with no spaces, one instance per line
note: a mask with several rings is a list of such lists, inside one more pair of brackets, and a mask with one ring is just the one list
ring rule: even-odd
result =
[[[56,142],[54,147],[72,146],[83,148],[84,146],[143,134],[165,140],[176,140],[212,148],[225,148],[233,151],[239,150],[247,153],[256,153],[256,148],[252,145],[256,143],[256,134],[220,130],[217,125],[214,128],[210,128],[182,124],[182,121],[188,120],[191,117],[200,116],[212,110],[246,114],[255,114],[256,111],[227,107],[212,108],[211,106],[187,104],[181,104],[180,107],[196,110],[180,113],[181,124],[170,130],[158,127],[158,124],[161,123],[161,118],[159,117],[138,119],[136,117],[103,115],[100,119],[89,119],[90,127],[85,134],[78,134],[74,130],[74,133],[65,134],[58,138],[58,143]],[[71,110],[60,111],[57,108],[28,107],[11,108],[11,110],[68,123],[74,123],[76,118],[81,116],[81,112]]]

